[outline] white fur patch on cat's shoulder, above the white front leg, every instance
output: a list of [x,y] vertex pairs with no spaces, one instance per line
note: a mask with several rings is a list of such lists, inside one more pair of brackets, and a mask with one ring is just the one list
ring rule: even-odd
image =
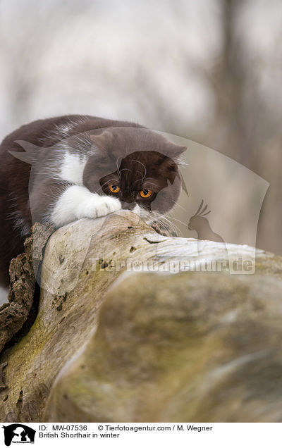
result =
[[83,185],[83,170],[87,156],[66,153],[60,170],[60,178],[75,185]]

